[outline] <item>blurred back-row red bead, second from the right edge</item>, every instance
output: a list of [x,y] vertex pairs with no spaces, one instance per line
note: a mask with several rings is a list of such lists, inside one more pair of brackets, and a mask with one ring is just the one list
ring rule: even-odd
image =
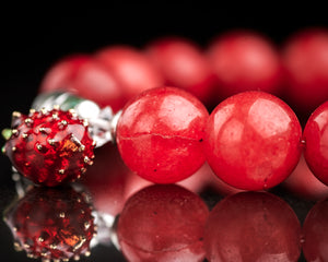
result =
[[209,59],[223,97],[245,91],[280,93],[280,57],[261,35],[251,32],[222,35],[209,46]]

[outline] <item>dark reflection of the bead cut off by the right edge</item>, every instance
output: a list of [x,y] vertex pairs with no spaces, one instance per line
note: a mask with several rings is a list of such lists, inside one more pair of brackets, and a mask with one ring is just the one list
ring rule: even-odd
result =
[[303,253],[308,262],[328,261],[328,199],[308,212],[303,224]]

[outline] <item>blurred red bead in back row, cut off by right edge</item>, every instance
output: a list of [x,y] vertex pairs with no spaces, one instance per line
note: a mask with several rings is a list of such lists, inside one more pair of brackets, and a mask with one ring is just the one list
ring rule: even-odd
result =
[[308,116],[328,100],[328,31],[307,29],[292,36],[283,60],[289,104]]

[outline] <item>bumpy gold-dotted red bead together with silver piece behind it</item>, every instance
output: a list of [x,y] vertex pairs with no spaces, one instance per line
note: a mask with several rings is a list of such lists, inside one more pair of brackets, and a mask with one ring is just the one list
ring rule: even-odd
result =
[[3,153],[36,184],[56,187],[79,179],[93,164],[96,143],[110,140],[109,120],[96,104],[67,93],[42,95],[36,102],[27,116],[13,112],[11,129],[2,132]]

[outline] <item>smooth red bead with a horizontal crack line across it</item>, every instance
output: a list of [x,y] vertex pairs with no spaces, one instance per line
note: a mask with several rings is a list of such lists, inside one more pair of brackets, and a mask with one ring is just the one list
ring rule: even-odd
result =
[[204,163],[207,120],[204,106],[183,90],[145,91],[128,103],[118,121],[121,157],[129,168],[150,181],[183,180]]

